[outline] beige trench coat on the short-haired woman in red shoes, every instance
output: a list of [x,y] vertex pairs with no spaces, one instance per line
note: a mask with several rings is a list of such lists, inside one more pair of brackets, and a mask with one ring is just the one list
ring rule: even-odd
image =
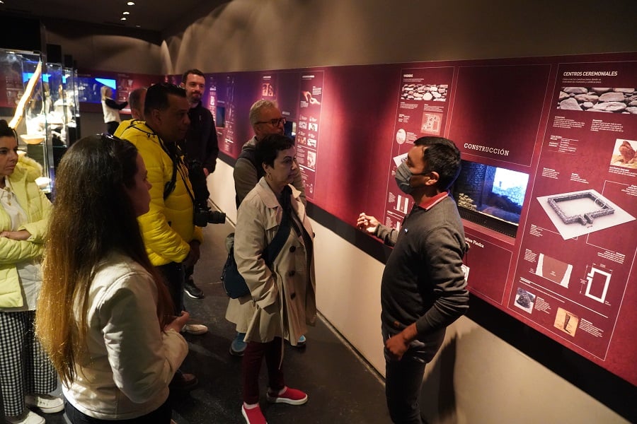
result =
[[[306,232],[314,237],[299,195],[292,187],[292,209]],[[226,319],[234,322],[239,331],[245,329],[245,341],[265,343],[282,337],[296,345],[307,331],[306,324],[316,322],[314,257],[307,269],[303,238],[290,230],[272,270],[261,257],[275,237],[281,218],[281,206],[261,178],[241,202],[234,233],[234,259],[251,293],[231,300],[226,311]]]

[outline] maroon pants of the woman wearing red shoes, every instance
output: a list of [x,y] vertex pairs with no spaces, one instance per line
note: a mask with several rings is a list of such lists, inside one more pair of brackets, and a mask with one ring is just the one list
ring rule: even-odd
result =
[[285,387],[283,371],[281,370],[281,358],[283,355],[283,340],[275,337],[268,343],[248,342],[243,351],[241,363],[243,373],[243,401],[248,404],[259,403],[259,372],[265,356],[265,366],[268,367],[268,387],[280,390]]

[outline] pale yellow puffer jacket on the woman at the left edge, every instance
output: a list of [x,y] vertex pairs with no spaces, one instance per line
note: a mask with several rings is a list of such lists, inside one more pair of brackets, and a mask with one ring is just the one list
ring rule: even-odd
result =
[[[42,167],[35,160],[21,157],[9,182],[18,203],[27,214],[28,223],[18,230],[27,230],[28,240],[11,240],[0,237],[0,308],[23,306],[20,279],[16,264],[29,259],[38,259],[44,251],[51,202],[35,184],[42,176]],[[11,230],[11,218],[0,206],[0,231]]]

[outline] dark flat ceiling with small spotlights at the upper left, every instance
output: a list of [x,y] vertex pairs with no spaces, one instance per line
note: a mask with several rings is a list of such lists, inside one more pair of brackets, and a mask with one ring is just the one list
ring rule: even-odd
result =
[[[205,0],[0,0],[0,13],[31,18],[75,20],[98,25],[163,32],[208,5],[209,10],[222,1]],[[124,15],[123,12],[130,14]],[[127,18],[121,20],[122,17]]]

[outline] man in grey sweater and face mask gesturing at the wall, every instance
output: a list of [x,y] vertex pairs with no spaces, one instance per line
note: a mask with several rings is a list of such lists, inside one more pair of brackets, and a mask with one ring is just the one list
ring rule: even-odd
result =
[[398,187],[414,206],[399,230],[361,213],[357,226],[393,246],[381,282],[386,398],[394,423],[420,424],[425,364],[449,324],[469,308],[462,257],[467,245],[449,187],[460,172],[452,141],[422,137],[396,169]]

